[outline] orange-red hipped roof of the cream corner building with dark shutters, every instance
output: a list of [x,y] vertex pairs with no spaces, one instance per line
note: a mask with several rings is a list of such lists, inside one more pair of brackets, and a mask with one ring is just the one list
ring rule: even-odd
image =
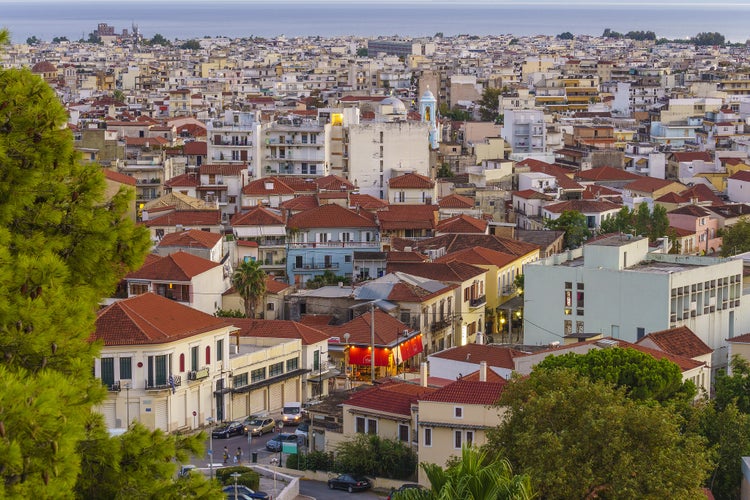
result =
[[120,300],[97,314],[89,341],[105,346],[165,344],[223,328],[221,318],[173,300],[144,293]]

